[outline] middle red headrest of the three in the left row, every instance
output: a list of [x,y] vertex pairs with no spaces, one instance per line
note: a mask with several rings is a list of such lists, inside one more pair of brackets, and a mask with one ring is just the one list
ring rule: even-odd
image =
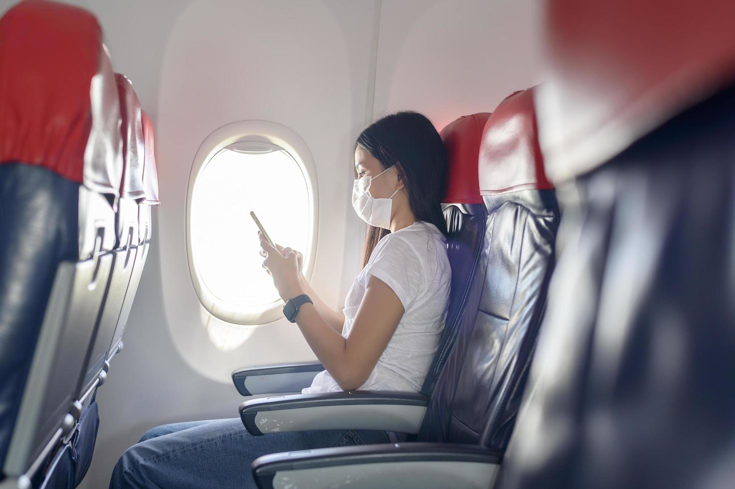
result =
[[143,116],[140,101],[129,79],[116,73],[115,82],[118,84],[120,96],[122,119],[120,132],[123,138],[123,179],[120,185],[120,196],[125,199],[145,199],[143,159],[146,148],[143,144]]

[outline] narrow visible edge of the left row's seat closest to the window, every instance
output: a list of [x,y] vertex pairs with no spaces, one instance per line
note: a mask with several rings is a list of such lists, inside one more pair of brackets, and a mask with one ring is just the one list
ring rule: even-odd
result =
[[122,302],[121,312],[117,319],[117,324],[112,335],[112,341],[107,351],[107,361],[109,362],[118,351],[123,349],[123,332],[128,322],[130,310],[135,299],[138,285],[140,285],[140,277],[143,275],[143,268],[148,258],[148,249],[150,249],[151,238],[153,236],[153,219],[151,210],[153,207],[160,205],[158,199],[158,171],[156,167],[156,155],[154,151],[154,132],[151,119],[148,118],[145,110],[140,111],[140,121],[142,124],[143,134],[143,197],[137,199],[137,222],[138,222],[138,241],[135,248],[135,262],[130,276],[130,282],[127,287],[125,297]]

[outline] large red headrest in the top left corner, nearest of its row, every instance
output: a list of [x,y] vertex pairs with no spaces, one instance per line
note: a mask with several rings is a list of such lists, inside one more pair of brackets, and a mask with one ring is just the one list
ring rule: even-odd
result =
[[0,163],[43,166],[117,196],[120,112],[96,18],[21,1],[0,18],[0,76]]

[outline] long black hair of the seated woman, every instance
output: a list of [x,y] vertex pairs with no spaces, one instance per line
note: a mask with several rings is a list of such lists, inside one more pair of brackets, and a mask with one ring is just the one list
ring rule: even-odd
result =
[[[412,110],[386,115],[362,131],[354,149],[357,146],[379,160],[383,169],[395,166],[416,218],[434,224],[447,235],[441,207],[447,178],[447,151],[434,124],[425,115]],[[370,226],[363,266],[367,265],[378,241],[388,233],[390,229]]]

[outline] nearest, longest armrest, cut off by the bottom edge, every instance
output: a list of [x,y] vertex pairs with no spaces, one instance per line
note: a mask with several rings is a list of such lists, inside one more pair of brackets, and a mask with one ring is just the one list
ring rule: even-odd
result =
[[251,468],[261,489],[492,488],[502,458],[478,445],[385,443],[264,455]]

